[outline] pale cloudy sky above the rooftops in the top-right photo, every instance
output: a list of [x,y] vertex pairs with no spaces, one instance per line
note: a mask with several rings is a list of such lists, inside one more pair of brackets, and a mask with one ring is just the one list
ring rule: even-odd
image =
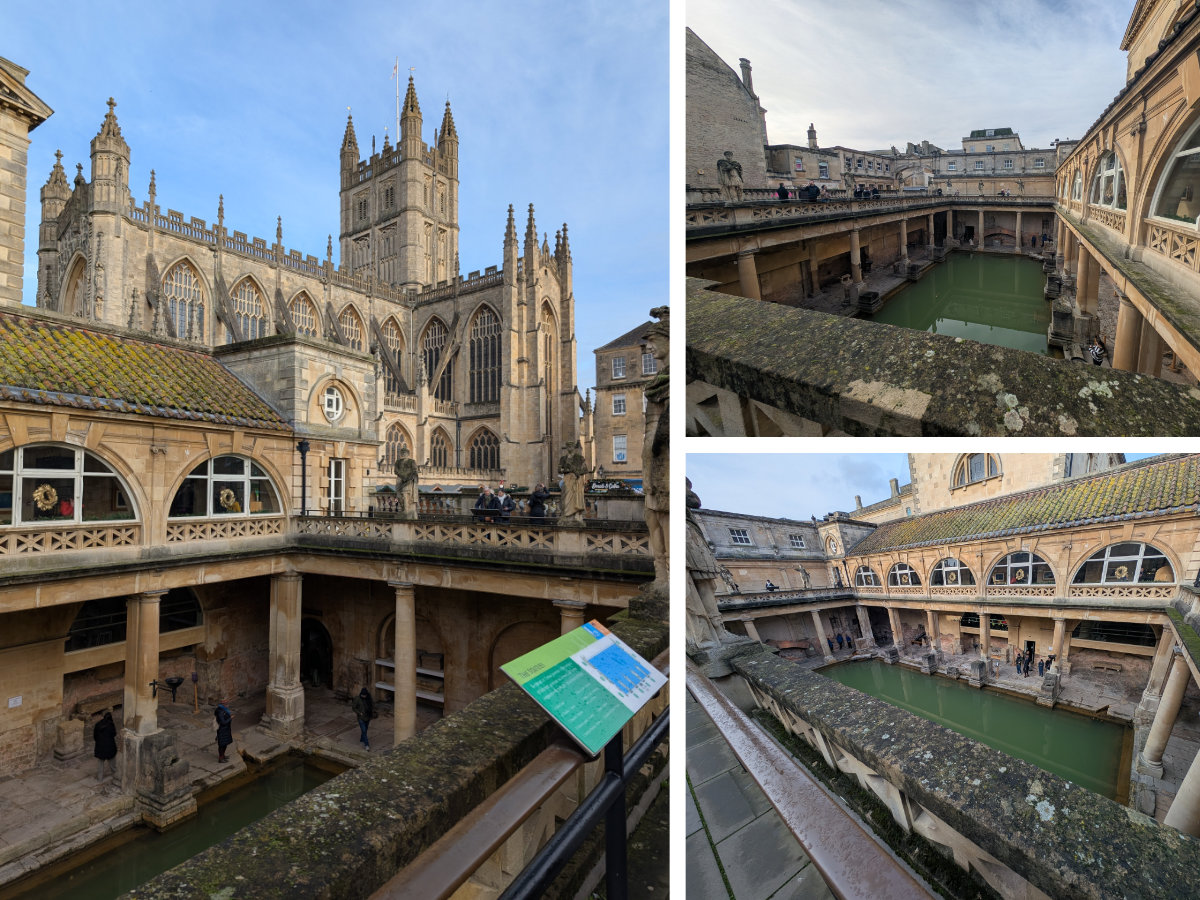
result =
[[1079,138],[1124,86],[1133,0],[689,0],[686,24],[737,72],[773,144],[961,150],[972,128],[1027,148]]

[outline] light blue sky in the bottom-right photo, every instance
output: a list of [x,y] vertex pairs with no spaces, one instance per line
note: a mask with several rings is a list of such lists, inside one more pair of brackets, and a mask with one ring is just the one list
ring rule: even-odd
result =
[[[1147,456],[1126,454],[1126,461]],[[906,454],[690,452],[688,478],[706,509],[796,520],[853,512],[854,494],[868,505],[887,499],[888,479],[911,480]]]

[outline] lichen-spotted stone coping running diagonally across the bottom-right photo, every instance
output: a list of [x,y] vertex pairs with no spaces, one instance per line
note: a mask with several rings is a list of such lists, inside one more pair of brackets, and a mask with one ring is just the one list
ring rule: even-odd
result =
[[1194,894],[1200,841],[764,652],[734,671],[1054,898]]

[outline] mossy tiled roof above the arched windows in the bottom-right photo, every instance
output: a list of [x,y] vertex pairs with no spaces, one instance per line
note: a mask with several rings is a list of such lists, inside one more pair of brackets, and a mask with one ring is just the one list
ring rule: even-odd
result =
[[1200,456],[1176,456],[888,522],[847,553],[910,550],[1196,509]]

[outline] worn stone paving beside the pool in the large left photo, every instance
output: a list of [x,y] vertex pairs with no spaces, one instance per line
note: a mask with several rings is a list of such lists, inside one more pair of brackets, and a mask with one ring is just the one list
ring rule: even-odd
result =
[[[254,727],[266,708],[264,689],[229,703],[234,744],[228,762],[217,762],[212,707],[200,703],[199,712],[193,713],[192,697],[186,696],[190,688],[185,683],[174,703],[169,694],[160,694],[158,725],[175,737],[180,757],[188,763],[187,778],[198,792],[245,775],[246,758],[253,764],[286,751],[278,740]],[[378,714],[370,727],[371,752],[392,746],[390,706],[379,704]],[[121,710],[113,718],[120,730]],[[418,730],[436,719],[436,712],[418,706]],[[91,740],[96,721],[94,716],[88,725],[83,755],[52,760],[0,779],[0,888],[134,822],[132,793],[125,793],[110,776],[96,781]],[[300,743],[348,767],[368,756],[359,743],[358,720],[349,702],[328,689],[305,690],[305,737]],[[118,755],[118,766],[120,762]]]

